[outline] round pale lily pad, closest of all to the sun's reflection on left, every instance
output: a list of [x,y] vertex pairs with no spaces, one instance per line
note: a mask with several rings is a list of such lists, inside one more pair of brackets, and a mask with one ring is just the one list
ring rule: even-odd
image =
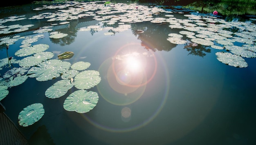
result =
[[77,89],[90,89],[101,81],[99,71],[87,70],[77,74],[74,78],[75,87]]

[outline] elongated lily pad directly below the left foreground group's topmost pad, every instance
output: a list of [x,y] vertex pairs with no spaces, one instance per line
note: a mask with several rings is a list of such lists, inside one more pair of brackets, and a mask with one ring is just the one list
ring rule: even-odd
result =
[[31,67],[34,65],[38,65],[39,63],[46,61],[47,59],[50,59],[54,56],[52,52],[39,52],[34,54],[34,56],[28,56],[26,58],[23,58],[19,65],[21,67]]

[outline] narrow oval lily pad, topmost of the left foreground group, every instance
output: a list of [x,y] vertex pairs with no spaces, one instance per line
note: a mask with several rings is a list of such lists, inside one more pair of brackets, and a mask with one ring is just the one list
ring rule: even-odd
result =
[[38,52],[43,52],[49,48],[47,44],[36,44],[26,48],[21,48],[20,50],[15,52],[16,56],[29,56],[31,54],[35,54]]

